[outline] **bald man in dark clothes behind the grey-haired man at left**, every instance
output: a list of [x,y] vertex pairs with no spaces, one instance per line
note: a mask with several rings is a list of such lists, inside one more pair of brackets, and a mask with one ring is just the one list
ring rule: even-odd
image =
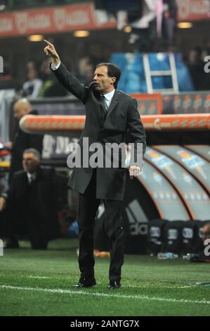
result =
[[[13,106],[14,117],[17,118],[18,123],[20,118],[24,115],[37,115],[37,111],[32,111],[32,105],[25,98],[19,99]],[[6,142],[5,146],[11,148],[11,167],[9,174],[9,182],[13,173],[22,170],[22,153],[25,149],[34,148],[41,154],[43,135],[31,135],[23,132],[19,125],[18,131],[15,134],[13,142]]]

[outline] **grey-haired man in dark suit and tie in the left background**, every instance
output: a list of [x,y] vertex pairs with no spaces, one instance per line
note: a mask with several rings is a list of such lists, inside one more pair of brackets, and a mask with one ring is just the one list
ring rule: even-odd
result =
[[5,213],[0,236],[10,239],[8,248],[18,248],[17,235],[27,235],[32,249],[46,249],[48,241],[60,235],[58,192],[67,190],[67,178],[39,165],[39,151],[26,149],[23,170],[13,174],[7,194],[0,197]]

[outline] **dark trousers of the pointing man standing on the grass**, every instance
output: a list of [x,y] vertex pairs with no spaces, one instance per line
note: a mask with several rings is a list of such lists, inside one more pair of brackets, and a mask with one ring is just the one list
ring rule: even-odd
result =
[[[110,239],[110,280],[121,280],[124,263],[123,201],[103,200],[105,230]],[[81,277],[94,277],[93,230],[100,199],[96,199],[96,170],[84,194],[79,194],[77,220],[79,223],[79,269]]]

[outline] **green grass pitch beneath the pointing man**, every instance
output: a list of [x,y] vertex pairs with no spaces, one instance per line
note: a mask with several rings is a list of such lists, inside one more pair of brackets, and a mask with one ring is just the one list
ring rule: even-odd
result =
[[77,239],[47,251],[4,249],[0,256],[0,316],[209,316],[209,263],[126,255],[122,288],[108,290],[109,258],[96,258],[96,287],[79,280]]

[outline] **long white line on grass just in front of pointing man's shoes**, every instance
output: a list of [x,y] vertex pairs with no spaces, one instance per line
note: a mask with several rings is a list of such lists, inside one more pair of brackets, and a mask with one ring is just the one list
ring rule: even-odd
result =
[[172,299],[172,298],[161,298],[158,296],[147,296],[147,295],[131,295],[131,294],[113,294],[113,293],[99,293],[99,292],[84,292],[84,291],[72,291],[70,289],[43,289],[41,287],[19,287],[12,285],[0,285],[0,289],[19,289],[21,291],[33,291],[33,292],[48,292],[58,294],[83,294],[88,296],[102,296],[102,297],[114,297],[119,299],[138,299],[138,300],[152,300],[152,301],[167,301],[176,302],[183,304],[210,304],[210,301],[206,300],[188,300],[188,299]]

